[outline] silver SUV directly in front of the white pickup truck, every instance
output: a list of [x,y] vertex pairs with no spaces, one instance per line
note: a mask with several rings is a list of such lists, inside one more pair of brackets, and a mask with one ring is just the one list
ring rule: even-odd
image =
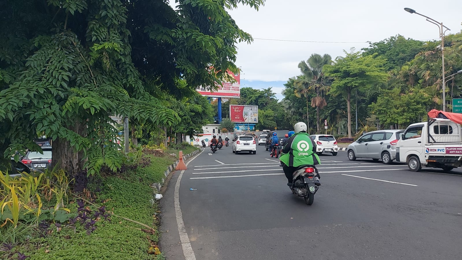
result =
[[402,133],[404,130],[378,130],[366,133],[348,145],[348,159],[355,161],[356,158],[370,158],[390,164],[396,159],[396,143]]

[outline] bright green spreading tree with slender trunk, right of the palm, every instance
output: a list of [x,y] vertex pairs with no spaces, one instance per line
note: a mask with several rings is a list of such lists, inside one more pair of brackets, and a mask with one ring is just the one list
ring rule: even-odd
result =
[[334,78],[330,93],[334,96],[346,94],[348,117],[348,137],[351,131],[351,93],[357,88],[367,88],[386,82],[388,74],[383,71],[385,60],[380,57],[361,56],[360,52],[352,49],[345,52],[345,57],[337,57],[333,65],[325,65],[324,73]]

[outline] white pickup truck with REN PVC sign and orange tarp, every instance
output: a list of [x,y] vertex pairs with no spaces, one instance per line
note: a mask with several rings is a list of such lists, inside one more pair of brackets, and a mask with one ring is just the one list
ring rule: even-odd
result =
[[406,162],[409,170],[422,167],[450,171],[462,164],[461,125],[450,119],[431,118],[411,124],[396,145],[396,161]]

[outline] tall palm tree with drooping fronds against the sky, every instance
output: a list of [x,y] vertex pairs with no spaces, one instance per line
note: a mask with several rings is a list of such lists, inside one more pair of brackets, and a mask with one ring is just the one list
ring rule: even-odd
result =
[[322,72],[322,67],[326,64],[332,64],[332,57],[328,54],[323,56],[313,53],[310,58],[298,63],[302,75],[294,81],[295,95],[301,98],[302,95],[306,98],[306,112],[308,114],[308,93],[313,93],[315,96],[311,99],[311,107],[316,107],[316,132],[320,132],[319,128],[319,111],[327,105],[324,94],[330,89],[331,78],[328,78]]

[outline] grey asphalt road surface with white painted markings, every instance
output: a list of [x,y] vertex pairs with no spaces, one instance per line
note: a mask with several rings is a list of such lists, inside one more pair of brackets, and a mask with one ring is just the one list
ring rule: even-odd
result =
[[263,146],[206,148],[164,192],[162,251],[169,260],[462,259],[460,168],[413,173],[344,151],[321,159],[308,206]]

